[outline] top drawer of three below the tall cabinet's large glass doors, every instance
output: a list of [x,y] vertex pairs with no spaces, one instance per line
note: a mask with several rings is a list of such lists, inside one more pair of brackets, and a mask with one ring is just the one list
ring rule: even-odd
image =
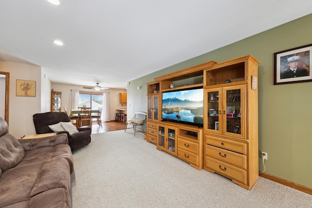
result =
[[234,152],[247,154],[247,144],[242,142],[235,142],[227,139],[221,139],[217,137],[212,137],[205,134],[205,144],[212,146],[218,146],[223,149],[228,149]]

